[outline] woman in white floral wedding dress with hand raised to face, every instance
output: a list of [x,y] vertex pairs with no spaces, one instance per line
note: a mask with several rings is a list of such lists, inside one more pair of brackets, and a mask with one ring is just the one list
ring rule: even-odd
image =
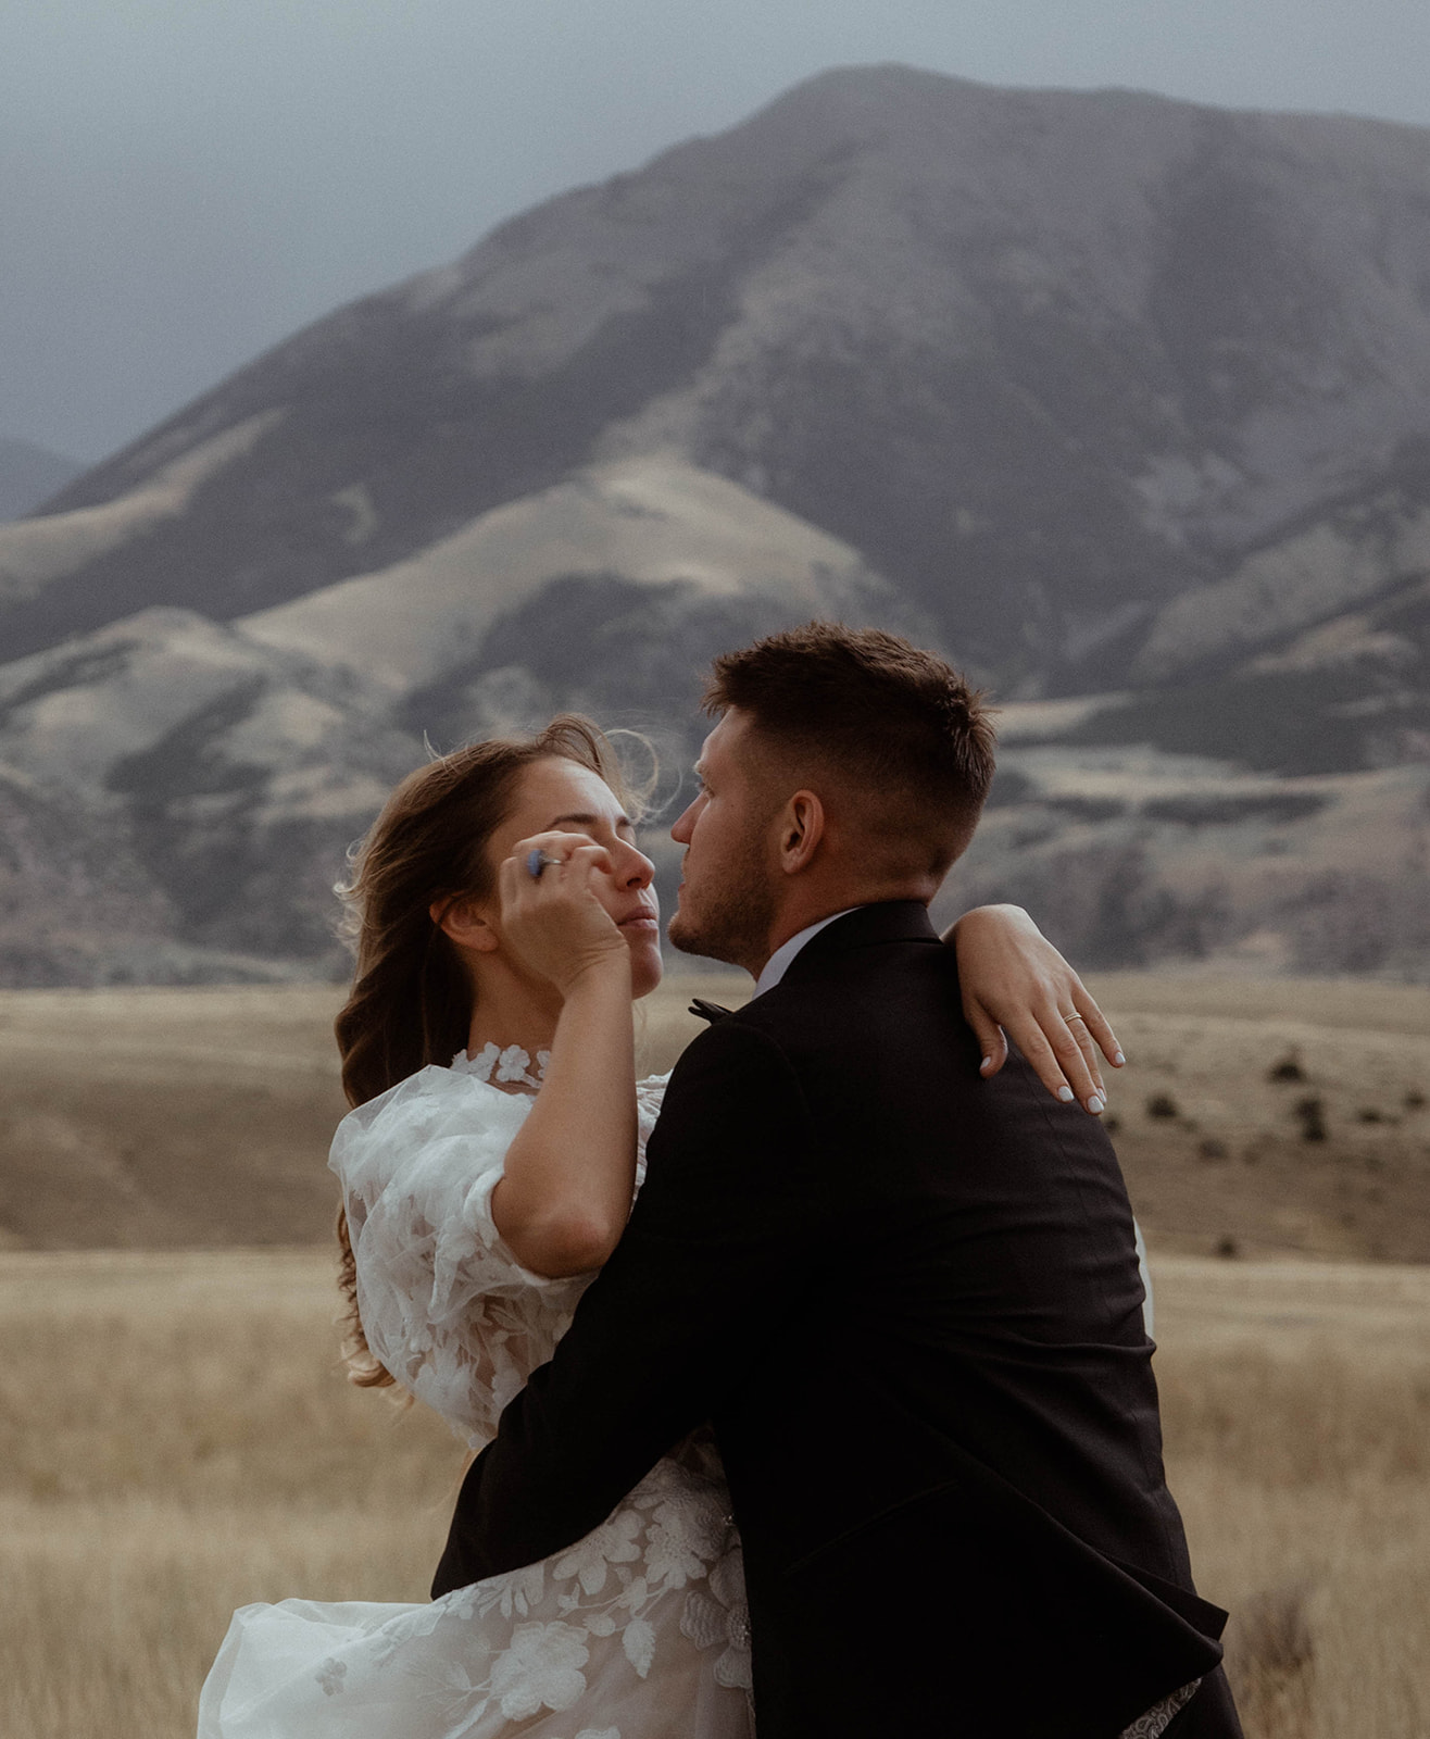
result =
[[[631,1000],[661,949],[635,821],[605,737],[564,716],[407,777],[343,890],[355,1109],[331,1165],[353,1377],[402,1384],[471,1447],[551,1356],[640,1188],[663,1078],[635,1082]],[[1120,1054],[1061,955],[1009,908],[950,939],[985,1073],[1002,1026],[1049,1090],[1101,1109],[1093,1038]],[[696,1433],[555,1558],[430,1605],[242,1607],[198,1739],[748,1739],[748,1689],[739,1539]]]

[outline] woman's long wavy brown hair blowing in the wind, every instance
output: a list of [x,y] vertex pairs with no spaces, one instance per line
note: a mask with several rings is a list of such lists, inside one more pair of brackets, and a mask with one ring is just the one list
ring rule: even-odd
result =
[[[336,894],[357,969],[334,1023],[348,1104],[376,1099],[428,1063],[451,1063],[466,1045],[473,986],[438,920],[452,901],[491,894],[487,842],[511,812],[522,770],[553,756],[590,767],[637,814],[609,737],[588,718],[562,713],[534,737],[471,743],[419,767],[348,852],[350,873]],[[386,1388],[395,1379],[362,1332],[344,1209],[337,1249],[348,1376],[360,1388]]]

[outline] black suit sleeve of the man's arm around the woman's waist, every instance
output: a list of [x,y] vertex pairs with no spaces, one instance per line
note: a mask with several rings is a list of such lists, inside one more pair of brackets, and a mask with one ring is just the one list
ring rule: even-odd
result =
[[468,1471],[435,1596],[598,1527],[720,1409],[807,1285],[828,1207],[807,1106],[772,1040],[734,1019],[703,1033],[666,1089],[649,1162],[555,1358]]

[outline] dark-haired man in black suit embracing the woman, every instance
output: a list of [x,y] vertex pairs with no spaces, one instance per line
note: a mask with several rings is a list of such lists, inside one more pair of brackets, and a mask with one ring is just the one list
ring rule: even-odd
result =
[[1235,1739],[1117,1160],[1019,1059],[979,1078],[925,913],[993,772],[978,697],[811,624],[706,701],[670,936],[757,995],[680,1059],[433,1593],[572,1544],[712,1421],[760,1739]]

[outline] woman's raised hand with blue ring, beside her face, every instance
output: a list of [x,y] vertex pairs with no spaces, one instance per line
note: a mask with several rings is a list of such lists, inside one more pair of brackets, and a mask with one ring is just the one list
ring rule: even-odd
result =
[[498,870],[503,951],[562,996],[609,970],[628,972],[626,939],[607,908],[614,868],[585,833],[520,840]]

